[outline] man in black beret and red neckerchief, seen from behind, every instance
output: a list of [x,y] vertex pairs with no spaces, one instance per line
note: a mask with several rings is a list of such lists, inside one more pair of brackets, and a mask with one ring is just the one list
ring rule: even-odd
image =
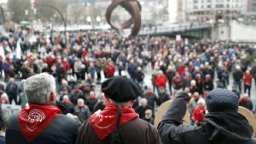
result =
[[153,125],[138,118],[133,102],[142,94],[141,87],[124,76],[109,78],[101,85],[108,105],[97,111],[82,126],[76,144],[161,143]]

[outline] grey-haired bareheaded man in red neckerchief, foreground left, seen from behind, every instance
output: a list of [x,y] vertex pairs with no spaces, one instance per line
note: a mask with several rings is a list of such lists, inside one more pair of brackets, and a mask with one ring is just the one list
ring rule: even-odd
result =
[[6,130],[6,143],[74,143],[80,123],[60,114],[55,107],[53,76],[42,73],[29,77],[24,90],[28,109],[14,113]]

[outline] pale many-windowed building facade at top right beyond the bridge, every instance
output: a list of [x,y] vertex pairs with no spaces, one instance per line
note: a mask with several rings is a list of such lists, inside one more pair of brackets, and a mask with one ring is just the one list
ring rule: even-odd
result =
[[246,13],[248,0],[185,0],[189,21],[227,20]]

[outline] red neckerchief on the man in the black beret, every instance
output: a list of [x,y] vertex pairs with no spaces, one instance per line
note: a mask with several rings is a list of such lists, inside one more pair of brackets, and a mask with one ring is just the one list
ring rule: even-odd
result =
[[[120,126],[130,122],[137,117],[132,107],[122,107],[123,113],[120,120]],[[109,134],[113,133],[116,127],[117,106],[108,104],[103,111],[95,113],[91,116],[90,122],[95,133],[100,140],[105,139]]]

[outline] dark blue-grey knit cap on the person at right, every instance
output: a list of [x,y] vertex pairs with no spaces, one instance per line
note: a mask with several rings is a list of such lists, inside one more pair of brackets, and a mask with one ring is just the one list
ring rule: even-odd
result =
[[238,111],[239,98],[233,91],[215,89],[206,99],[207,110],[211,112]]

